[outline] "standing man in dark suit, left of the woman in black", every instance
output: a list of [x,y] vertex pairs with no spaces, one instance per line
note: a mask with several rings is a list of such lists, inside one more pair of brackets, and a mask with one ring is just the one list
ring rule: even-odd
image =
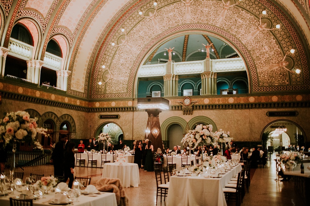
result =
[[61,134],[60,140],[55,144],[55,149],[52,153],[51,162],[54,165],[55,176],[64,176],[64,144],[67,138],[67,135]]

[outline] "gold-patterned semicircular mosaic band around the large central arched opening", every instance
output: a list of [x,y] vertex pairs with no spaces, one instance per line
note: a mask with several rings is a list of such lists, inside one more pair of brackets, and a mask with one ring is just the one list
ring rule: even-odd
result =
[[[117,30],[109,41],[104,42],[105,48],[100,54],[102,58],[98,60],[100,65],[108,65],[110,76],[105,84],[99,86],[98,82],[102,81],[106,70],[96,65],[92,98],[130,97],[134,82],[132,74],[138,67],[135,62],[143,58],[145,53],[141,51],[148,42],[169,28],[188,23],[220,27],[247,48],[250,56],[245,57],[246,62],[253,61],[255,65],[255,70],[249,71],[253,92],[309,87],[308,62],[302,45],[289,22],[267,1],[242,1],[237,5],[210,0],[196,0],[186,5],[172,0],[158,1],[159,6],[164,3],[167,6],[157,10],[150,9],[151,2],[145,4],[140,8],[145,18],[135,11],[123,23],[126,36]],[[267,10],[267,15],[260,18],[263,10]],[[281,29],[274,29],[275,24],[280,24]],[[113,47],[112,42],[117,46]],[[293,55],[286,54],[291,48],[296,52]],[[294,67],[302,70],[300,75],[293,73]],[[119,74],[122,74],[121,78],[115,76]],[[128,76],[129,79],[125,78]]]

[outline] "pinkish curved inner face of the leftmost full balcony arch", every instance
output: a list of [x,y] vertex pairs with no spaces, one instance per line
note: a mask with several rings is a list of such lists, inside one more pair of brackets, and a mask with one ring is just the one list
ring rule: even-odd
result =
[[[23,24],[30,32],[33,38],[33,59],[38,59],[39,56],[39,49],[42,42],[42,27],[38,23],[37,19],[33,19],[31,17],[23,17],[18,19],[14,25],[17,23]],[[37,30],[35,30],[36,28]]]

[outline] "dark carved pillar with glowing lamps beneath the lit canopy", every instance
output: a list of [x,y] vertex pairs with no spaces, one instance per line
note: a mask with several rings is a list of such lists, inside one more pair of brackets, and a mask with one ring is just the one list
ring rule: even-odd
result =
[[152,141],[154,151],[157,148],[162,149],[162,133],[160,130],[159,123],[159,113],[162,112],[161,109],[145,109],[148,113],[148,123],[146,125],[145,138]]

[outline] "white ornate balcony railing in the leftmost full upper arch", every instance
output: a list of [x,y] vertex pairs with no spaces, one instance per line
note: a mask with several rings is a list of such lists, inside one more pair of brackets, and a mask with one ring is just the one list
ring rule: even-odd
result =
[[12,56],[29,60],[32,59],[33,46],[28,45],[22,41],[10,38],[9,41],[9,53]]

